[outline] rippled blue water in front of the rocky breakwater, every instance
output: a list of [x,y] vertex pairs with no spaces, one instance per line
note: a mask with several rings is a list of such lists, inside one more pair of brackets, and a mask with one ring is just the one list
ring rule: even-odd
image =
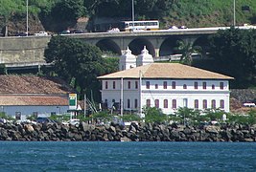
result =
[[256,143],[0,141],[0,171],[256,171]]

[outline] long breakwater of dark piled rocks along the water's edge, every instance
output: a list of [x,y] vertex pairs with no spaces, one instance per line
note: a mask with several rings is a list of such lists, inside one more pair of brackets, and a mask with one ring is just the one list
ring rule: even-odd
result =
[[256,125],[222,124],[184,126],[176,124],[111,123],[80,126],[60,123],[0,123],[0,140],[22,141],[256,141]]

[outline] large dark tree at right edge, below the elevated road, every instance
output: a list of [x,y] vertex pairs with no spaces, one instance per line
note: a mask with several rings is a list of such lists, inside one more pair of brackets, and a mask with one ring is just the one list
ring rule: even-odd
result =
[[220,30],[210,38],[210,56],[215,59],[216,72],[235,77],[237,88],[255,82],[256,31]]

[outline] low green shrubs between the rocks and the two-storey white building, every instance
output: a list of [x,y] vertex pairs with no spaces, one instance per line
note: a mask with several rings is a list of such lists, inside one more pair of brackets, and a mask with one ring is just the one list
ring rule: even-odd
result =
[[[256,124],[256,111],[251,110],[246,115],[225,113],[222,110],[216,109],[206,109],[204,111],[199,111],[189,108],[178,108],[177,112],[172,115],[163,114],[161,109],[155,107],[145,107],[143,109],[143,114],[145,118],[140,118],[137,114],[125,113],[122,117],[117,114],[110,114],[107,111],[100,111],[98,113],[92,114],[89,117],[84,118],[80,115],[78,118],[81,121],[103,121],[108,123],[113,121],[124,122],[146,122],[146,123],[178,123],[185,125],[200,125],[200,124],[221,124],[221,123],[240,123],[240,124]],[[225,118],[223,118],[225,116]],[[53,117],[53,119],[56,119]]]

